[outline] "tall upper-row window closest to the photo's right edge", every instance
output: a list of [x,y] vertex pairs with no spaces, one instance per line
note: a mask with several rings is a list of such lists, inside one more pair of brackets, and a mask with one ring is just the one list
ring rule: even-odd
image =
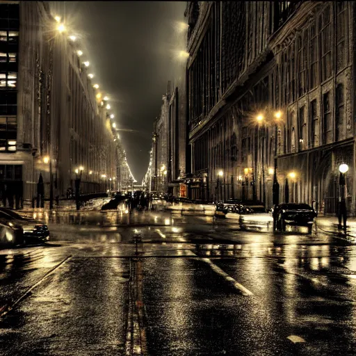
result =
[[337,1],[337,71],[346,64],[346,1]]

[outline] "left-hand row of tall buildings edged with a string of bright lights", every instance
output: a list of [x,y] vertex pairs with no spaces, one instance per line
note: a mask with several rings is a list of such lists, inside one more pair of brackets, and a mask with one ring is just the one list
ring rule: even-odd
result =
[[[115,143],[104,94],[93,88],[80,42],[43,1],[0,3],[0,191],[10,204],[64,196],[81,176],[83,193],[116,181]],[[76,173],[77,172],[77,173]]]

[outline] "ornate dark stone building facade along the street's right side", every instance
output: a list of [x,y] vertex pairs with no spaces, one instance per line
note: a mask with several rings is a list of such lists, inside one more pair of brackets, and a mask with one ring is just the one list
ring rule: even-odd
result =
[[[191,194],[355,213],[353,2],[188,2]],[[277,147],[277,149],[275,148]]]

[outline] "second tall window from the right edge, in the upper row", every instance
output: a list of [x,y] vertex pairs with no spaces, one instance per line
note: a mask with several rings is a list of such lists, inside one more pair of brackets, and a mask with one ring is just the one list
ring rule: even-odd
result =
[[319,29],[321,33],[321,81],[325,81],[330,78],[332,72],[330,6],[327,6],[319,17]]

